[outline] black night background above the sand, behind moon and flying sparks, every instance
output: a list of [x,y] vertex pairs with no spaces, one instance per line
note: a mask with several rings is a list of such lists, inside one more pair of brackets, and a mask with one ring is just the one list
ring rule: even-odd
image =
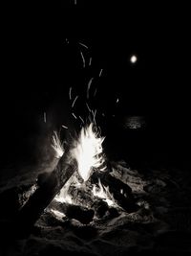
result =
[[[83,97],[92,77],[97,95],[90,105],[97,108],[109,155],[134,163],[189,160],[190,20],[183,4],[84,0],[74,5],[68,0],[61,6],[16,3],[3,12],[3,163],[28,161],[38,137],[62,124],[77,126],[69,88],[81,97],[74,110],[85,115]],[[83,68],[80,51],[92,57],[91,67]],[[135,65],[129,61],[133,54]],[[44,112],[53,119],[48,127]],[[122,128],[124,117],[131,115],[144,116],[147,127]]]

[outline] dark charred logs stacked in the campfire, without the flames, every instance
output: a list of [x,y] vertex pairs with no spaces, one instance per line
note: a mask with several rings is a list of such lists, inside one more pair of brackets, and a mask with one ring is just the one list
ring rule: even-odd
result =
[[96,184],[97,186],[99,180],[104,187],[108,188],[116,205],[128,213],[138,210],[131,188],[113,176],[111,168],[108,168],[106,172],[96,170],[85,183],[85,186],[76,187],[71,184],[68,194],[72,197],[73,204],[55,203],[53,198],[70,177],[74,173],[77,174],[76,170],[75,160],[71,160],[67,154],[64,154],[51,174],[38,176],[36,191],[20,209],[14,221],[15,228],[20,230],[21,236],[27,236],[31,233],[33,224],[52,201],[54,203],[50,207],[61,211],[68,219],[75,219],[83,224],[93,221],[94,217],[103,218],[107,214],[117,216],[117,209],[108,206],[106,201],[93,195],[93,185]]

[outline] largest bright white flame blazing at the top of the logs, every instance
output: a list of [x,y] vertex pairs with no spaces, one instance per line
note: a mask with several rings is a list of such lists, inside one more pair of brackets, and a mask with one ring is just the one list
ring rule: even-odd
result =
[[88,180],[93,168],[98,168],[103,164],[104,159],[101,153],[104,139],[97,132],[97,128],[93,127],[93,123],[81,128],[72,153],[77,162],[78,173],[84,181]]

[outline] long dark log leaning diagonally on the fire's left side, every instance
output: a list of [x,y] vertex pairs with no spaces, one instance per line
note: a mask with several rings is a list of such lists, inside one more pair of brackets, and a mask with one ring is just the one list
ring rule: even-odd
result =
[[15,219],[15,228],[18,232],[20,231],[19,235],[30,234],[35,221],[39,219],[44,209],[51,203],[75,170],[76,163],[64,154],[51,174],[39,176],[38,188],[20,209]]

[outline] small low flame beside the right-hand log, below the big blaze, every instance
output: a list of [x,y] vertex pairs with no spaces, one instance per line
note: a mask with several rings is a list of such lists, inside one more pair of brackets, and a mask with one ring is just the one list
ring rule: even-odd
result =
[[[96,185],[93,186],[93,194],[94,194],[95,197],[101,198],[104,201],[106,201],[109,206],[112,206],[112,205],[115,204],[114,201],[111,199],[112,196],[111,196],[111,194],[109,192],[109,188],[103,186],[101,184],[100,179],[98,179],[98,190],[96,189]],[[108,197],[108,195],[110,197]]]

